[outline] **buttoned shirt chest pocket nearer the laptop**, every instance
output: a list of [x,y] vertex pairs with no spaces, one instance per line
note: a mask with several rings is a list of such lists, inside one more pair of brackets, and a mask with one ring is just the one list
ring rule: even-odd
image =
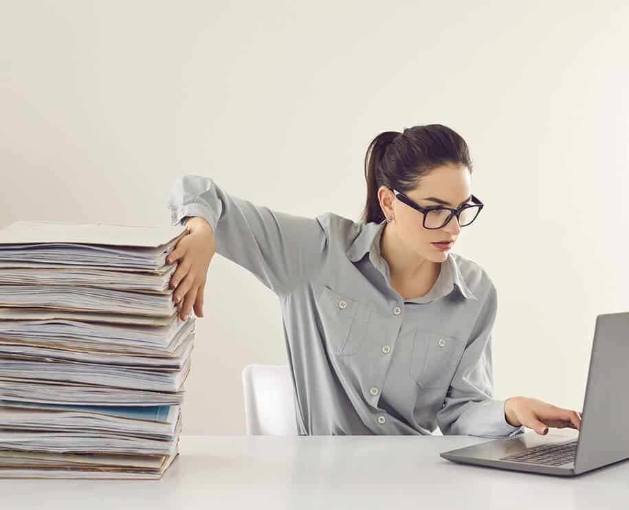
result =
[[456,337],[417,329],[410,354],[410,376],[429,390],[450,386],[463,344]]

